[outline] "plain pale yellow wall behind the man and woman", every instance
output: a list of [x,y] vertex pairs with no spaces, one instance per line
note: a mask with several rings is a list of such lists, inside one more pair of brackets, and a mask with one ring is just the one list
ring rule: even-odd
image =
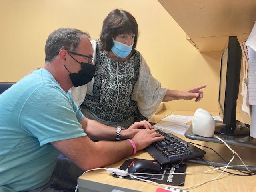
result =
[[218,111],[220,52],[199,53],[157,0],[0,0],[0,82],[15,82],[44,66],[44,44],[61,27],[99,38],[102,21],[114,8],[137,20],[137,49],[162,86],[186,90],[207,84],[201,102],[172,101],[166,108]]

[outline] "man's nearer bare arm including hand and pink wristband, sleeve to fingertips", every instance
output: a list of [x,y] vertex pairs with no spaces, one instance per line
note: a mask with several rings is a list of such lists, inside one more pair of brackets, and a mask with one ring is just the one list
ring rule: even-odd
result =
[[93,142],[88,136],[82,136],[51,144],[80,168],[88,170],[117,162],[132,155],[134,149],[142,150],[152,142],[163,139],[155,130],[144,129],[132,138],[132,143],[128,140]]

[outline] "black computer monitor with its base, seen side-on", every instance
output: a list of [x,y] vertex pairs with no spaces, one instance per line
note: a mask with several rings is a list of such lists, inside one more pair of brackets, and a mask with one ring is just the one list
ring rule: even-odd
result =
[[220,88],[218,108],[222,124],[216,124],[215,132],[228,135],[249,135],[250,129],[238,126],[236,121],[236,100],[238,99],[241,47],[236,36],[228,38],[228,47],[221,55]]

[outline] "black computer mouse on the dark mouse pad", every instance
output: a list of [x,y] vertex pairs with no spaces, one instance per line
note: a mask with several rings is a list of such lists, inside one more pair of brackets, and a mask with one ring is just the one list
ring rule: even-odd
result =
[[128,169],[128,173],[160,173],[161,166],[150,160],[138,160]]

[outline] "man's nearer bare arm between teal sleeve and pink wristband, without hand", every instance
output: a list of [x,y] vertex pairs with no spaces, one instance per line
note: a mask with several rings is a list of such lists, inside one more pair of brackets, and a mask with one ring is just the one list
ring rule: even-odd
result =
[[133,153],[127,140],[93,142],[87,136],[52,142],[52,145],[84,170],[113,164]]

